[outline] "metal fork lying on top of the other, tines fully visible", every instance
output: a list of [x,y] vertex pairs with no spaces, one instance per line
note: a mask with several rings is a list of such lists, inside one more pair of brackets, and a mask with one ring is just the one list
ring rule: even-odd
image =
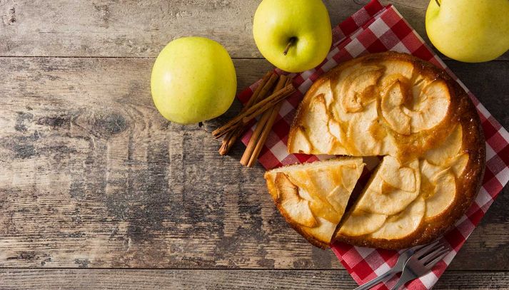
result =
[[400,279],[390,290],[398,290],[406,282],[424,276],[431,271],[438,261],[450,252],[449,247],[444,242],[434,242],[422,249],[419,249],[408,259],[401,273]]

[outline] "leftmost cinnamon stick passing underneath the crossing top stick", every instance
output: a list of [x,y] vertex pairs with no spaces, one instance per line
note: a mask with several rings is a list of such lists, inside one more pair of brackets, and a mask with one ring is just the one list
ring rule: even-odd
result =
[[[271,90],[274,83],[276,83],[277,74],[272,71],[268,71],[265,76],[261,79],[261,83],[256,87],[249,98],[248,103],[242,108],[241,112],[251,107],[254,103],[256,103],[259,99],[265,98],[266,94],[269,90]],[[221,147],[219,147],[219,154],[226,155],[230,151],[233,144],[235,144],[238,137],[243,133],[244,128],[239,126],[235,130],[232,130],[230,133],[226,134],[221,142]]]

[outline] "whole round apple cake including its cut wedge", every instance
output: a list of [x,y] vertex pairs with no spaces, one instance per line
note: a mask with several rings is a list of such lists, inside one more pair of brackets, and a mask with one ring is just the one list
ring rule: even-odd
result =
[[[321,170],[291,175],[293,167],[267,172],[268,189],[288,222],[321,246],[328,244],[338,222],[332,239],[358,246],[403,249],[430,242],[468,209],[485,167],[480,120],[465,90],[431,63],[395,52],[355,58],[319,78],[299,105],[288,151],[383,156],[346,214],[342,206],[351,184],[335,196],[336,207],[313,207],[311,202],[306,220],[300,216],[300,222],[288,214],[297,209],[282,205],[283,193],[306,200],[302,188],[319,182],[323,188],[316,187],[313,196],[325,201],[337,186],[324,187],[331,171],[324,176]],[[346,175],[354,180],[362,163],[350,160],[357,165]],[[295,168],[302,172],[329,166],[322,163]],[[341,176],[348,168],[341,167]]]

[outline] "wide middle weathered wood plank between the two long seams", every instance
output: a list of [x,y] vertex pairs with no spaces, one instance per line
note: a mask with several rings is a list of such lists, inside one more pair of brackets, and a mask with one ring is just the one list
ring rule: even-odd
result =
[[[287,226],[241,145],[218,155],[210,131],[226,117],[198,128],[158,115],[152,63],[0,58],[0,267],[340,268]],[[236,68],[242,88],[270,66]],[[474,93],[509,101],[507,63],[483,70],[498,86]],[[455,269],[509,269],[507,195]]]

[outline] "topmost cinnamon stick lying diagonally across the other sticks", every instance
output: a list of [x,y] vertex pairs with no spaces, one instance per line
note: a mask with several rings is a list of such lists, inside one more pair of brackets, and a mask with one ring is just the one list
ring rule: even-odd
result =
[[294,88],[292,84],[289,84],[288,86],[282,88],[281,90],[278,90],[277,92],[273,93],[272,95],[269,95],[267,98],[261,100],[260,102],[256,103],[250,108],[247,108],[244,112],[242,112],[235,118],[231,119],[228,123],[226,123],[222,127],[214,130],[212,132],[213,137],[219,138],[225,135],[226,133],[230,132],[231,130],[234,130],[239,124],[246,125],[246,123],[248,123],[250,120],[253,120],[253,118],[255,118],[257,115],[260,115],[269,108],[272,108],[281,100],[288,97],[288,95],[291,95],[292,93],[295,92],[296,88]]

